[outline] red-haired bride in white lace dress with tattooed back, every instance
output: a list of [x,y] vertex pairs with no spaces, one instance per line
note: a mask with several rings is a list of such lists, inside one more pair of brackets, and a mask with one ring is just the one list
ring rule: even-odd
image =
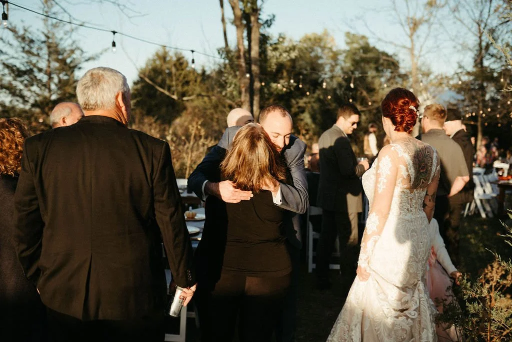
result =
[[419,101],[395,88],[382,100],[391,137],[362,176],[370,212],[357,276],[328,341],[436,341],[435,308],[425,289],[439,158],[410,136]]

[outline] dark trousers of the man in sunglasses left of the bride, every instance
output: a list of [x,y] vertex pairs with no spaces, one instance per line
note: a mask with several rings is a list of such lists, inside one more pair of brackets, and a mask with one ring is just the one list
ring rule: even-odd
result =
[[[348,246],[353,230],[358,230],[357,213],[322,211],[322,231],[316,246],[315,273],[319,279],[329,278],[329,264],[334,250],[336,235],[340,249],[340,271],[352,272],[355,270],[357,252],[355,246]],[[357,239],[355,239],[357,241]]]

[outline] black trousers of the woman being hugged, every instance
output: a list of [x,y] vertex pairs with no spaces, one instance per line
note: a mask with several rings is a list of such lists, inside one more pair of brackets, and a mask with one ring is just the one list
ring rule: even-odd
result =
[[201,291],[198,286],[201,341],[231,341],[237,319],[241,342],[270,341],[289,285],[290,274],[248,277],[222,270],[214,291]]

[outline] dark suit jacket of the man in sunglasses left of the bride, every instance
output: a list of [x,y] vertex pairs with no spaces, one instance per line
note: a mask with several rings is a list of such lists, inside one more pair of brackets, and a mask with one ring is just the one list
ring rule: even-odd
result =
[[357,164],[347,135],[333,125],[320,136],[318,148],[318,207],[337,212],[361,212],[362,185],[359,177],[365,172],[365,168]]

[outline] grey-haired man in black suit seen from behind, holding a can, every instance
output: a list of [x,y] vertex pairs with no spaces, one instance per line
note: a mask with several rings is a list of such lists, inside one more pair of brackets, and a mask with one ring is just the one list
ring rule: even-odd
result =
[[48,307],[50,340],[161,341],[162,237],[185,304],[193,250],[167,143],[126,127],[130,88],[110,68],[78,82],[85,116],[27,139],[15,245]]

